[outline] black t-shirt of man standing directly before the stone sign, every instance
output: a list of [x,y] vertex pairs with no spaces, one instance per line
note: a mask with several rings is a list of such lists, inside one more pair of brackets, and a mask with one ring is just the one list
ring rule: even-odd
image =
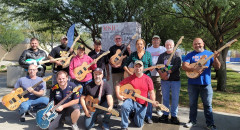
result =
[[[110,59],[113,55],[115,55],[115,53],[117,52],[118,49],[120,49],[122,51],[125,46],[126,46],[125,44],[122,44],[121,46],[113,45],[112,47],[110,47],[110,49],[109,49],[110,53],[108,55],[108,58]],[[123,55],[129,56],[127,49],[124,51]],[[119,68],[112,68],[112,73],[122,73],[122,72],[124,72],[122,66]]]

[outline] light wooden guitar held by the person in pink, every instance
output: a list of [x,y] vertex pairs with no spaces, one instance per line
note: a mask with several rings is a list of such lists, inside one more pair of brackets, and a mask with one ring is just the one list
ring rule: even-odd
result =
[[[110,53],[110,51],[104,52],[102,55],[100,55],[98,58],[96,58],[96,62],[99,59],[101,59],[103,56],[107,55],[108,53]],[[87,62],[83,62],[81,66],[78,66],[73,70],[73,73],[78,81],[83,80],[88,73],[92,72],[92,70],[89,70],[88,68],[91,65],[93,65],[93,63],[94,62],[91,62],[90,64],[88,64]]]

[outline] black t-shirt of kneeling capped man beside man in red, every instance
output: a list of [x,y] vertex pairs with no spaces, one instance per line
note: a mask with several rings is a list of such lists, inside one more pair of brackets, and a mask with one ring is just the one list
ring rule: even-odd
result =
[[[96,85],[95,82],[92,81],[83,88],[82,95],[84,96],[90,95],[95,99],[95,98],[98,98],[99,91],[100,91],[100,85]],[[106,96],[112,95],[112,93],[113,93],[112,87],[107,82],[104,82],[100,104],[105,102],[107,100]]]

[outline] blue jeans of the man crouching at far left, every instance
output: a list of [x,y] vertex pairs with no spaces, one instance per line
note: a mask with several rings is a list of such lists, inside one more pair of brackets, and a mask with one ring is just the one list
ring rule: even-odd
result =
[[31,106],[38,106],[38,105],[46,105],[49,102],[49,98],[47,97],[39,97],[34,100],[27,100],[26,102],[23,102],[20,107],[19,107],[19,114],[22,115],[23,113],[27,112],[30,110]]

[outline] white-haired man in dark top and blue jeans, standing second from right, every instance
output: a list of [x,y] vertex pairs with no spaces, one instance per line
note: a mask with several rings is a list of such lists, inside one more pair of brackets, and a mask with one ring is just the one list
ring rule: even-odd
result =
[[[181,67],[181,55],[174,51],[174,41],[169,39],[165,42],[166,52],[162,53],[157,61],[157,64],[167,64],[168,60],[171,60],[170,65],[172,68],[168,71],[162,71],[156,69],[160,74],[162,95],[163,95],[163,105],[169,108],[169,96],[170,90],[172,93],[172,103],[171,103],[171,123],[179,124],[177,118],[178,113],[178,101],[180,93],[180,67]],[[170,58],[172,56],[172,58]],[[163,115],[159,118],[160,122],[168,122],[169,112],[163,112]]]

